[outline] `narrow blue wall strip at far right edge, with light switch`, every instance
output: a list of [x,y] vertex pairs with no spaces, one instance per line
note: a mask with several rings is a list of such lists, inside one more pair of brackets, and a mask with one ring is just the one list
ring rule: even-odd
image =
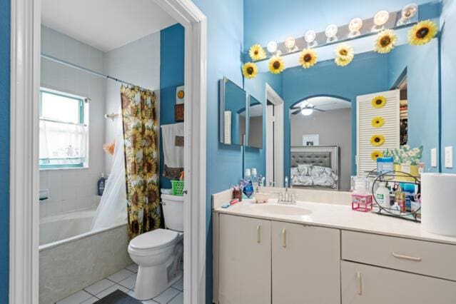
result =
[[[456,1],[444,0],[442,7],[442,146],[441,158],[445,159],[445,146],[456,150]],[[455,162],[453,155],[453,163]],[[442,171],[456,173],[456,166],[445,168],[442,161]]]

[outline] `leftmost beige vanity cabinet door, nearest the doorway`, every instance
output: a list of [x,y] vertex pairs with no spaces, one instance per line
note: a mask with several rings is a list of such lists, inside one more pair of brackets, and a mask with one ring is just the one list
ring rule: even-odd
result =
[[220,304],[270,303],[270,221],[221,214]]

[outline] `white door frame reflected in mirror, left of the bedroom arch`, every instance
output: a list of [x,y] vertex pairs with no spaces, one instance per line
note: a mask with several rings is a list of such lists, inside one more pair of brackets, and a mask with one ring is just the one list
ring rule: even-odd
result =
[[[268,186],[268,182],[271,181],[268,176],[270,176],[270,165],[268,164],[268,159],[272,158],[274,159],[274,186],[276,187],[282,187],[283,186],[283,168],[284,168],[284,163],[283,163],[283,151],[284,151],[284,146],[283,146],[283,134],[284,134],[284,129],[283,129],[283,115],[284,115],[284,105],[285,102],[283,99],[274,91],[274,89],[266,83],[266,98],[265,98],[265,108],[266,108],[266,118],[268,118],[268,113],[269,113],[269,108],[268,108],[268,101],[273,103],[275,106],[275,126],[277,128],[274,129],[274,155],[270,156],[270,149],[268,148],[267,144],[270,142],[270,136],[271,134],[268,132],[268,126],[266,126],[266,186]],[[266,120],[266,123],[267,120]]]

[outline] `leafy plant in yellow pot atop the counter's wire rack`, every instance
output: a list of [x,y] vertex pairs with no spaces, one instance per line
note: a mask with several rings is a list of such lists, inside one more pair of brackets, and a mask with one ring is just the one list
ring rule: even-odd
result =
[[[383,156],[393,158],[394,171],[400,171],[418,177],[424,169],[424,163],[420,162],[422,146],[410,148],[410,146],[404,145],[400,148],[386,149],[383,151]],[[401,173],[397,173],[395,179],[397,181],[415,181],[415,178]]]

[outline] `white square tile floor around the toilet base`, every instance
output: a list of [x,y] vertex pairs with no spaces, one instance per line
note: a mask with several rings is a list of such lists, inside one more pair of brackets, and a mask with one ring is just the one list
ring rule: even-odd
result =
[[[120,289],[134,298],[134,289],[136,283],[136,273],[138,265],[131,264],[128,267],[114,273],[113,275],[99,280],[96,283],[84,288],[83,290],[70,295],[56,304],[90,304],[95,303],[98,299]],[[182,304],[183,303],[183,279],[178,280],[170,288],[157,295],[152,300],[143,301],[145,304]]]

